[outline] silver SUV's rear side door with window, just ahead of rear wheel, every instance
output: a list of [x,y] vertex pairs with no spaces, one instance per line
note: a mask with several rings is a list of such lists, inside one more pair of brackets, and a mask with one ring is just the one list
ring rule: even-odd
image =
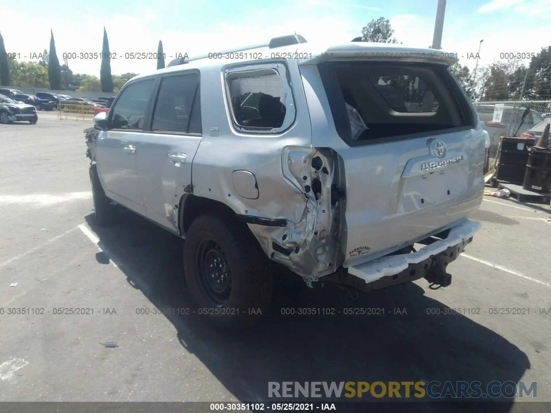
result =
[[177,204],[191,186],[191,164],[201,142],[199,72],[160,79],[147,131],[137,146],[138,179],[147,217],[177,233]]

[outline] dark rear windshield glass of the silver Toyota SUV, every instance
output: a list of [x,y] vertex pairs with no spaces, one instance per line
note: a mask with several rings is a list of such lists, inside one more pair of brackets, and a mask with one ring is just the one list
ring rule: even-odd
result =
[[473,122],[468,102],[444,66],[326,62],[318,69],[346,142],[407,138]]

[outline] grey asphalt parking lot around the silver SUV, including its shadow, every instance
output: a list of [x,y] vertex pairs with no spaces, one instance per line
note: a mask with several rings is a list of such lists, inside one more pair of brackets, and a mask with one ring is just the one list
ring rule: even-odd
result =
[[[496,411],[551,402],[549,206],[485,197],[473,217],[482,230],[446,289],[418,280],[353,300],[280,281],[262,324],[223,333],[200,316],[153,314],[191,306],[180,240],[130,213],[94,226],[90,125],[45,112],[35,125],[0,125],[0,400],[252,402],[268,401],[268,382],[438,380],[537,382],[537,399]],[[285,316],[288,307],[385,314]],[[453,308],[464,314],[444,314]]]

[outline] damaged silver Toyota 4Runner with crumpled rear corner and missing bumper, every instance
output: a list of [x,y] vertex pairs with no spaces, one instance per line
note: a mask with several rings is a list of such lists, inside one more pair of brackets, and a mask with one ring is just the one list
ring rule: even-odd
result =
[[185,238],[188,288],[223,324],[268,308],[270,261],[309,287],[448,286],[485,160],[453,55],[298,35],[240,51],[138,75],[95,117],[98,224],[121,205]]

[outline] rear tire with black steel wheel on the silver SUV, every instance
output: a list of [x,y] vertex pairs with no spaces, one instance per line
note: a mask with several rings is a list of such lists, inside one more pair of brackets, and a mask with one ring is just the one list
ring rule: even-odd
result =
[[[210,273],[215,270],[209,263],[223,265],[222,274]],[[199,316],[217,327],[250,327],[266,314],[272,298],[269,264],[247,226],[232,218],[207,213],[196,218],[187,231],[183,246],[187,286]],[[215,291],[215,280],[222,284],[219,288],[229,285],[229,289]]]

